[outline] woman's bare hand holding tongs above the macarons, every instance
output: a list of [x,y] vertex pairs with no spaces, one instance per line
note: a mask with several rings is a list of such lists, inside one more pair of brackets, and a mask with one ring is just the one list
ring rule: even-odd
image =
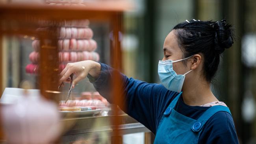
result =
[[93,78],[98,78],[100,75],[100,64],[95,61],[79,61],[76,63],[68,63],[67,66],[60,73],[59,85],[63,82],[70,82],[70,74],[75,74],[76,78],[73,81],[72,87],[82,79],[84,79],[88,74],[93,76]]

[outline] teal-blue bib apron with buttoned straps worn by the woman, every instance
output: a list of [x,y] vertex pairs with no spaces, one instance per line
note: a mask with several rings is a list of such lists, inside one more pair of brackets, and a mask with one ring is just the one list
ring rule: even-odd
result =
[[230,113],[228,107],[216,105],[207,109],[197,120],[194,120],[174,110],[181,94],[182,92],[165,110],[156,131],[154,144],[197,144],[204,124],[213,114],[218,111]]

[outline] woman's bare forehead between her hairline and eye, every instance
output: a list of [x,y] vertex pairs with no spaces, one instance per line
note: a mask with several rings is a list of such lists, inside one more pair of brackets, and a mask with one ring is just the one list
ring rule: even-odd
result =
[[165,42],[163,44],[163,50],[170,51],[170,52],[181,51],[177,41],[177,37],[174,32],[175,31],[172,30],[165,38]]

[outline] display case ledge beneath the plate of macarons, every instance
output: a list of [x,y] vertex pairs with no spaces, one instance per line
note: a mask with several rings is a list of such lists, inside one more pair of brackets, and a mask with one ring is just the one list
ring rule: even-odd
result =
[[[70,142],[74,142],[76,140],[93,140],[93,137],[91,137],[92,134],[100,137],[106,137],[107,134],[107,137],[112,137],[122,136],[130,133],[150,132],[149,129],[127,114],[121,114],[118,117],[121,120],[121,124],[115,128],[111,125],[113,115],[64,119],[62,120],[63,122],[72,123],[72,121],[76,121],[76,124],[63,135],[62,142],[64,144],[69,144]],[[97,121],[104,123],[92,125]],[[115,135],[116,133],[114,133],[114,131],[118,131],[118,135]]]

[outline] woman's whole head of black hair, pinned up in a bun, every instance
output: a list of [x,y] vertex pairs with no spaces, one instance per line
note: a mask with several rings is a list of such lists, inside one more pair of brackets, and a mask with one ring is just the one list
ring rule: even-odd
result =
[[193,19],[177,24],[173,30],[184,57],[203,54],[204,75],[210,82],[218,69],[220,54],[234,43],[232,26],[225,19],[221,22]]

